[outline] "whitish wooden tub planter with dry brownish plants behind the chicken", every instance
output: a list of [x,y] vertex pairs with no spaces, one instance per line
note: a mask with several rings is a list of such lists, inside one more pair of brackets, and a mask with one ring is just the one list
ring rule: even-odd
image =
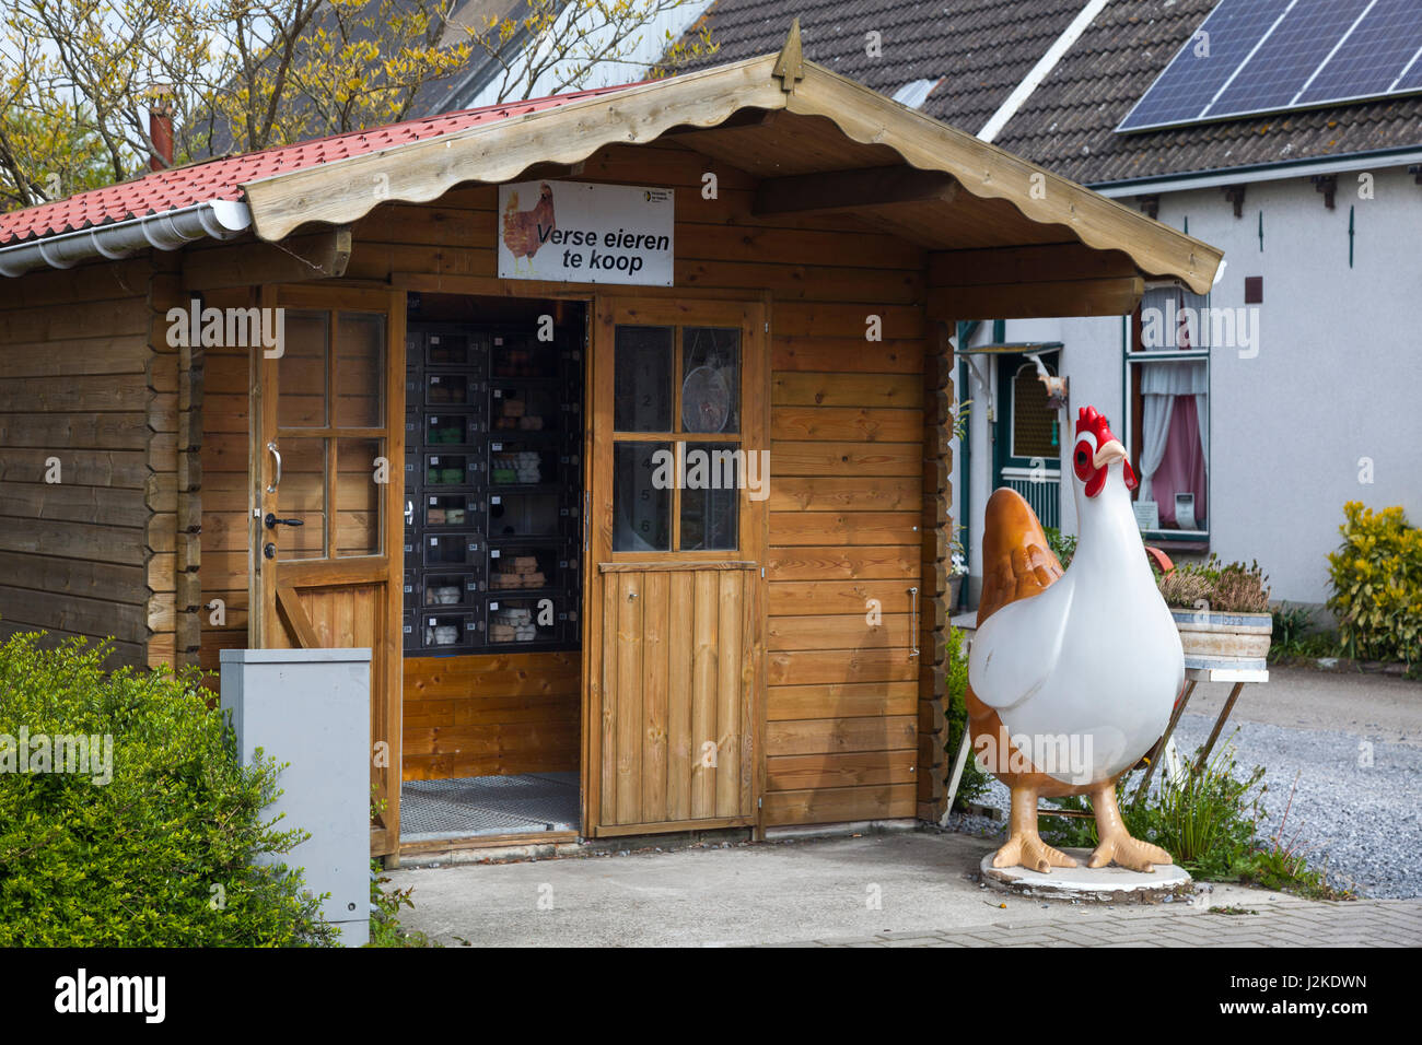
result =
[[1158,574],[1186,667],[1263,671],[1274,633],[1268,577],[1258,563],[1182,563]]

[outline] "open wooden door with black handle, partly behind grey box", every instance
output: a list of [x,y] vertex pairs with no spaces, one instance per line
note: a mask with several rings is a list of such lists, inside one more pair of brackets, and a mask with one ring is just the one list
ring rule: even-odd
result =
[[371,854],[400,845],[402,293],[263,291],[283,344],[253,351],[257,648],[371,648]]

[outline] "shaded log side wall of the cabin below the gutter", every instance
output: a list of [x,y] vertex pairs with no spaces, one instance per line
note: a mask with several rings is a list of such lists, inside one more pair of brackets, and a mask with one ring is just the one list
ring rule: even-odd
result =
[[[112,636],[111,663],[185,663],[173,260],[6,280],[0,297],[0,634]],[[188,397],[191,402],[191,397]],[[188,479],[191,485],[191,479]],[[191,614],[188,614],[191,616]]]

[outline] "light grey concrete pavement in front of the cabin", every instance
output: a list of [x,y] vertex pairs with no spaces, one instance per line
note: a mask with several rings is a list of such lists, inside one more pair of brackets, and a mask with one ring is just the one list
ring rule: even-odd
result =
[[[993,847],[924,830],[387,874],[398,889],[414,886],[414,910],[401,921],[447,945],[845,945],[848,940],[883,947],[900,937],[934,945],[1047,943],[1048,937],[1081,945],[1135,938],[1199,945],[1202,933],[1210,943],[1234,943],[1258,940],[1271,926],[1320,943],[1348,930],[1367,940],[1369,924],[1422,943],[1418,901],[1314,904],[1216,884],[1206,903],[1258,911],[1221,916],[1193,903],[1089,906],[1003,896],[977,880]],[[1294,911],[1325,917],[1321,924],[1317,917],[1290,923]],[[1176,934],[1176,926],[1190,933]],[[1285,943],[1283,936],[1278,941]]]

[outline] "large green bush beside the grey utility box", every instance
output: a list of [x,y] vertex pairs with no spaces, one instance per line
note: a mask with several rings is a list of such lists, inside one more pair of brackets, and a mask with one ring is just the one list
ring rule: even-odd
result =
[[[107,654],[0,645],[0,945],[334,943],[299,870],[252,863],[304,837],[263,819],[279,766],[237,762],[198,672],[105,672]],[[111,779],[37,772],[41,735],[112,738]]]

